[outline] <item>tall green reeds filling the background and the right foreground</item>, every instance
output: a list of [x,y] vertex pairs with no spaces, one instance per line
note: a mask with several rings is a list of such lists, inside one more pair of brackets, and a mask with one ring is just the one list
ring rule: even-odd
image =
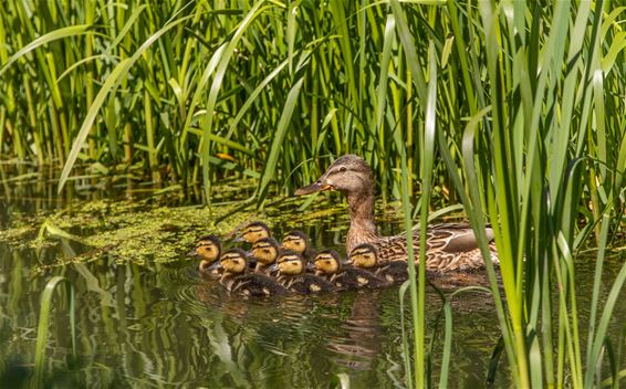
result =
[[[460,201],[487,254],[491,223],[515,385],[591,387],[614,358],[606,334],[626,278],[599,314],[604,256],[624,229],[617,6],[2,2],[0,155],[63,168],[60,186],[76,164],[140,167],[155,182],[201,181],[207,201],[211,182],[261,171],[261,203],[316,178],[327,155],[359,154],[383,198],[403,199],[407,229],[414,209],[425,220]],[[594,305],[581,323],[574,257],[590,239]],[[408,381],[424,387],[425,274],[410,269]]]

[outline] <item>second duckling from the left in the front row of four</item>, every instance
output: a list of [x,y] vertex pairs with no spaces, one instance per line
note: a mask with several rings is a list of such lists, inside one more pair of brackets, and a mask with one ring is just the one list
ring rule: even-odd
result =
[[274,267],[279,269],[277,282],[292,292],[310,294],[334,292],[335,285],[328,281],[305,272],[305,261],[300,253],[283,251]]

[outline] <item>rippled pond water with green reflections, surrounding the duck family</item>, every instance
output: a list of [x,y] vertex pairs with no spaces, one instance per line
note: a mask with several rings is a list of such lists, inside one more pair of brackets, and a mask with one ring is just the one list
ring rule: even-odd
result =
[[[86,200],[72,197],[72,201],[58,202],[38,192],[20,197],[14,188],[4,190],[0,209],[3,229],[33,220],[41,223],[49,220],[45,215],[58,215],[70,203]],[[103,195],[92,192],[87,197],[93,200]],[[128,196],[105,197],[116,202]],[[340,207],[332,206],[337,199],[319,197],[305,211],[299,203],[285,200],[260,218],[273,218],[270,224],[279,236],[300,228],[312,236],[314,245],[343,251],[347,215],[341,201]],[[143,211],[167,202],[173,204],[173,212],[189,209],[175,207],[176,201],[165,197],[144,204]],[[384,232],[401,230],[393,209],[378,213],[384,219]],[[154,217],[146,214],[144,218]],[[177,248],[175,257],[170,255],[167,261],[155,261],[153,254],[146,254],[144,261],[126,261],[123,253],[111,255],[104,246],[86,263],[60,265],[64,259],[90,252],[85,242],[72,236],[123,228],[105,222],[102,225],[101,230],[92,224],[74,225],[66,229],[71,236],[49,235],[43,242],[32,240],[39,230],[11,242],[0,241],[0,387],[23,386],[32,374],[40,296],[52,275],[66,276],[76,290],[79,358],[69,367],[69,307],[56,293],[46,348],[45,382],[50,387],[328,388],[336,385],[340,374],[348,377],[351,388],[405,387],[398,287],[267,299],[230,296],[215,281],[198,277],[197,263],[185,257],[184,246],[188,249],[188,243],[181,248],[173,243],[177,234],[182,236],[188,231],[176,228],[168,231],[168,241],[157,242],[164,250]],[[190,225],[198,230],[196,236],[211,232]],[[147,235],[143,238],[149,240],[150,233]],[[609,278],[617,262],[607,266]],[[585,297],[591,291],[592,269],[588,262],[578,269],[582,311],[588,306]],[[480,276],[477,280],[480,283]],[[444,285],[445,293],[452,290]],[[484,387],[489,359],[499,338],[491,297],[460,294],[452,307],[449,385]],[[626,308],[617,309],[616,320],[626,318]],[[427,334],[438,334],[434,346],[435,379],[442,340],[440,311],[439,295],[428,287]],[[408,312],[404,314],[408,318]],[[504,359],[503,374],[497,375],[494,387],[511,385]]]

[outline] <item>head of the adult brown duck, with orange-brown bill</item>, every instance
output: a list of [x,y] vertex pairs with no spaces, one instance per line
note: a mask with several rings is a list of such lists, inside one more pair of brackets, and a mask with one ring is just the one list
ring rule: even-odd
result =
[[333,162],[317,181],[300,188],[295,196],[323,190],[338,190],[346,195],[373,191],[374,178],[367,162],[355,155],[345,155]]

